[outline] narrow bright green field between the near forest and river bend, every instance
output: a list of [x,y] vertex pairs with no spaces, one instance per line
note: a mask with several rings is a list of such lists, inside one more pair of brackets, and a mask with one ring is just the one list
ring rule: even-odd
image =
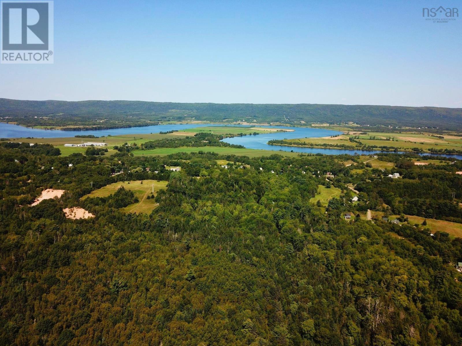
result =
[[257,150],[257,149],[242,149],[242,148],[230,148],[230,147],[180,147],[180,148],[157,148],[148,150],[134,150],[135,156],[141,155],[170,155],[181,152],[193,153],[197,151],[204,152],[215,152],[220,155],[243,155],[249,157],[256,156],[269,156],[279,154],[282,156],[297,156],[299,153],[291,153],[289,151],[273,151],[273,150]]

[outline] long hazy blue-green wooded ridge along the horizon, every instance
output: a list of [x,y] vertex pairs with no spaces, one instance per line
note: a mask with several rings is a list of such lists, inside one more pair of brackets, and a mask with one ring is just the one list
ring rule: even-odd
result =
[[[37,116],[38,118],[34,118]],[[175,103],[146,101],[21,101],[0,98],[0,117],[22,125],[91,125],[97,128],[153,125],[147,121],[207,120],[321,123],[356,122],[461,129],[462,109],[322,104]],[[44,118],[40,118],[44,117]],[[104,119],[101,123],[100,120]],[[68,129],[74,129],[69,127]]]

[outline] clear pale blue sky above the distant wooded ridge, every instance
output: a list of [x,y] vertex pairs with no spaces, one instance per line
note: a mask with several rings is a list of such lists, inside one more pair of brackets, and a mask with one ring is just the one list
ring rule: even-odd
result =
[[[422,7],[459,8],[446,24]],[[55,0],[53,65],[0,97],[462,107],[462,2]]]

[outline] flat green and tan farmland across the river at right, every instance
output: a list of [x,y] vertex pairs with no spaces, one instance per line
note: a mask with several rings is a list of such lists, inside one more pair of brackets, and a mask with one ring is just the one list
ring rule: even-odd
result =
[[[360,144],[349,141],[349,137],[359,136],[357,140],[361,141],[365,145],[375,146],[391,146],[402,148],[403,150],[412,150],[413,148],[423,149],[450,149],[450,150],[462,150],[462,137],[457,136],[444,136],[444,138],[434,137],[430,134],[420,134],[415,132],[409,133],[393,133],[393,132],[368,132],[367,135],[340,135],[338,137],[324,137],[324,138],[298,138],[290,139],[290,142],[296,142],[298,145],[314,145],[322,144],[345,144],[353,145],[360,148]],[[389,138],[390,140],[387,140]]]

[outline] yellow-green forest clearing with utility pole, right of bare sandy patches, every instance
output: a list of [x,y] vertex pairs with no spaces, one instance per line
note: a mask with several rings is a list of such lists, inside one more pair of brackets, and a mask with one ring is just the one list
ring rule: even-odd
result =
[[[141,184],[141,181],[143,182]],[[151,196],[152,187],[154,187],[154,196],[157,194],[157,191],[160,189],[167,188],[167,181],[157,181],[152,179],[146,180],[136,180],[136,181],[125,181],[118,182],[110,185],[106,185],[101,189],[91,191],[90,194],[85,195],[82,199],[86,197],[107,197],[110,194],[116,192],[121,186],[126,190],[131,190],[134,192],[135,196],[140,200],[139,203],[130,204],[121,210],[126,213],[151,213],[152,209],[157,206],[157,203],[154,199],[147,199],[146,197]]]

